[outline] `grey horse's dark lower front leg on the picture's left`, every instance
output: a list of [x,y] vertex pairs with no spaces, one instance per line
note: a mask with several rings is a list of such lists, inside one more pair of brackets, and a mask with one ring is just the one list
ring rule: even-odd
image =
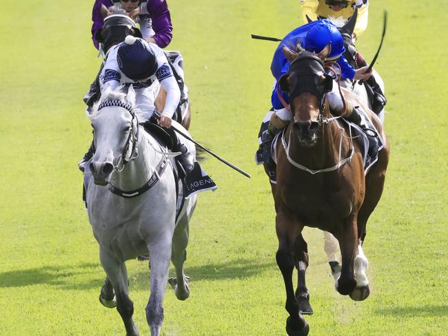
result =
[[126,265],[121,260],[117,260],[112,253],[101,249],[100,260],[105,273],[114,287],[116,296],[116,310],[119,312],[121,319],[126,328],[126,335],[139,336],[132,315],[134,314],[134,303],[129,297],[128,271]]

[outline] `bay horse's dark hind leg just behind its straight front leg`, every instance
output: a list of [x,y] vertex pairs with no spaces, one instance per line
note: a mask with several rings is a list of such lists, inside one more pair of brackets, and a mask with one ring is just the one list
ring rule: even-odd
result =
[[294,264],[297,269],[296,300],[298,310],[302,314],[312,315],[313,308],[309,304],[309,291],[305,282],[305,273],[308,267],[308,245],[303,235],[298,235],[294,244]]

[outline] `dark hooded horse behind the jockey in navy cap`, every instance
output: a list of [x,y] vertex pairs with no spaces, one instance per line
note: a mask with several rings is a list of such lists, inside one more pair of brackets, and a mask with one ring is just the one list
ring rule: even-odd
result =
[[[119,6],[112,6],[110,8],[106,8],[104,5],[101,7],[101,15],[104,19],[104,25],[101,30],[96,32],[95,39],[99,42],[100,45],[100,53],[103,55],[103,59],[105,60],[108,51],[114,45],[117,45],[125,40],[125,37],[128,35],[132,35],[135,37],[142,38],[141,32],[139,28],[136,27],[135,19],[140,14],[140,7],[132,10],[132,12],[126,12],[123,8]],[[191,111],[190,111],[190,99],[188,98],[188,88],[183,81],[183,75],[179,72],[183,72],[183,70],[178,71],[181,68],[182,59],[180,52],[177,51],[167,51],[164,50],[165,56],[167,56],[167,60],[170,63],[170,66],[173,70],[174,77],[179,85],[179,89],[181,90],[181,101],[179,106],[176,109],[176,112],[173,116],[173,119],[180,123],[185,129],[189,129],[190,121],[191,121]],[[174,63],[177,65],[174,66]],[[91,85],[91,91],[94,90],[96,94],[85,98],[85,102],[90,105],[99,99],[99,74],[101,72],[103,65],[101,65],[100,71],[94,83]],[[89,92],[89,93],[90,93]],[[158,111],[163,111],[165,107],[165,98],[166,92],[165,90],[159,90],[159,94],[156,96],[156,100],[154,101],[154,105]]]

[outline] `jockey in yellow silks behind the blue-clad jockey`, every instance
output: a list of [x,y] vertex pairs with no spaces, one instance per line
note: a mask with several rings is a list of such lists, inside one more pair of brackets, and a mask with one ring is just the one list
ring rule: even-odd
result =
[[353,37],[360,36],[367,28],[369,17],[369,2],[367,0],[301,0],[301,6],[305,23],[307,23],[307,15],[313,21],[329,19],[333,23],[339,20],[345,23],[352,17],[355,8],[358,8]]

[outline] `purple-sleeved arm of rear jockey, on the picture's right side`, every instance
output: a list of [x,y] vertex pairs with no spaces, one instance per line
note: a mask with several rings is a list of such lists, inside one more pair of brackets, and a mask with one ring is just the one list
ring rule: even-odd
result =
[[166,0],[148,0],[147,11],[151,16],[152,29],[156,33],[147,41],[156,43],[160,48],[165,48],[171,42],[173,30]]

